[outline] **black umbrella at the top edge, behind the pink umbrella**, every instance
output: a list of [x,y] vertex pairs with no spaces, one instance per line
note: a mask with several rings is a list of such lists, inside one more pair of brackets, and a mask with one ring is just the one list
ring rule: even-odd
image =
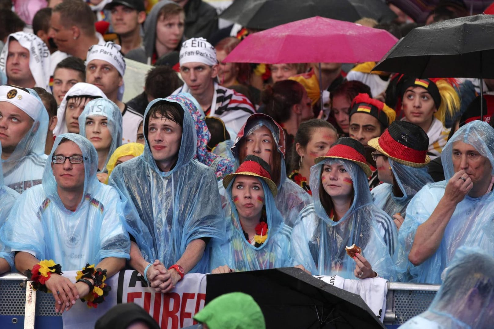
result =
[[382,0],[238,0],[220,18],[256,30],[322,16],[354,22],[362,17],[389,23],[396,14]]

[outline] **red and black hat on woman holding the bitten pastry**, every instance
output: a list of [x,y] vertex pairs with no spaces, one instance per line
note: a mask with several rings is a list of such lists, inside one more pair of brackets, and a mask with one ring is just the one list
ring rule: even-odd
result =
[[314,162],[318,163],[328,158],[345,159],[355,162],[364,170],[367,177],[372,175],[372,170],[366,163],[364,146],[353,138],[340,137],[336,144],[329,148],[325,156],[317,157]]

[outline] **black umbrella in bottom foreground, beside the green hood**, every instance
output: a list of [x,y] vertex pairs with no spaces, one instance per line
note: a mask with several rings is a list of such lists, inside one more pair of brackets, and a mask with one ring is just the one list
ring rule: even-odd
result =
[[362,297],[297,268],[213,274],[206,280],[206,304],[227,292],[245,292],[261,307],[268,329],[385,328]]

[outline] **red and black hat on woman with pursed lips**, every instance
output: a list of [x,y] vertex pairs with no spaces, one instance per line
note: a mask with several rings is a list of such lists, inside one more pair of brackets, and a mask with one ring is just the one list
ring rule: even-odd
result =
[[278,194],[276,184],[271,181],[271,171],[269,165],[260,157],[255,155],[247,155],[244,162],[240,164],[235,173],[226,175],[225,178],[223,178],[223,186],[227,188],[235,176],[240,175],[259,177],[264,180],[266,184],[268,184],[271,193],[273,193],[273,197]]

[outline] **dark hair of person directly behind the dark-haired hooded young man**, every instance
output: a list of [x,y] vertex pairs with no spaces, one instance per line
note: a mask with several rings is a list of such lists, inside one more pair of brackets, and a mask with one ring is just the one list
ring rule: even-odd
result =
[[180,88],[183,81],[178,74],[166,65],[156,66],[146,74],[144,92],[153,99],[166,98]]

